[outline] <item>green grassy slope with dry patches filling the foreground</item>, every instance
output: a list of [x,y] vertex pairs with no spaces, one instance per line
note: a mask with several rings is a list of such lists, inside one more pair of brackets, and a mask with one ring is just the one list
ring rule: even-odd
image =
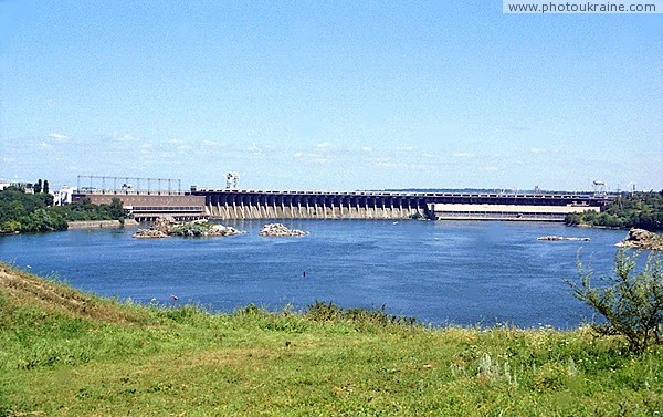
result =
[[[569,296],[571,296],[569,294]],[[0,264],[0,416],[656,416],[663,348],[316,303],[119,303]]]

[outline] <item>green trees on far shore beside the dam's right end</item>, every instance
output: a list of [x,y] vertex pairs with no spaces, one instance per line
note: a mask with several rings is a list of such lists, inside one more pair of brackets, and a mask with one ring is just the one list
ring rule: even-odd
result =
[[568,226],[663,230],[663,190],[620,195],[606,204],[601,212],[569,213],[565,222]]

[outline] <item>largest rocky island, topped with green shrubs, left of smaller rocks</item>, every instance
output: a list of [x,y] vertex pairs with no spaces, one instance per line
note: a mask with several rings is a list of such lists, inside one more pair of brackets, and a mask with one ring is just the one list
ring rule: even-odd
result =
[[182,237],[224,237],[245,233],[230,226],[213,223],[208,220],[177,221],[172,217],[160,217],[149,229],[138,229],[136,239],[161,239],[169,236]]

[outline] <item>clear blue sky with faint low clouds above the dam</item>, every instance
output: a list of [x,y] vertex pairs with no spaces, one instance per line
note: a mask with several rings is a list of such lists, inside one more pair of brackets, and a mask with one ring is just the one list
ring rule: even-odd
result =
[[0,0],[0,178],[663,189],[663,14]]

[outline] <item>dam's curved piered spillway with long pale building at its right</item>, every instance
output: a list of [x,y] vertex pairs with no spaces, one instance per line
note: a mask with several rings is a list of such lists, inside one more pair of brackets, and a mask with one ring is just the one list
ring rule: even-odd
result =
[[192,189],[206,213],[230,219],[430,219],[564,221],[600,211],[609,199],[590,194],[390,191],[263,191]]

